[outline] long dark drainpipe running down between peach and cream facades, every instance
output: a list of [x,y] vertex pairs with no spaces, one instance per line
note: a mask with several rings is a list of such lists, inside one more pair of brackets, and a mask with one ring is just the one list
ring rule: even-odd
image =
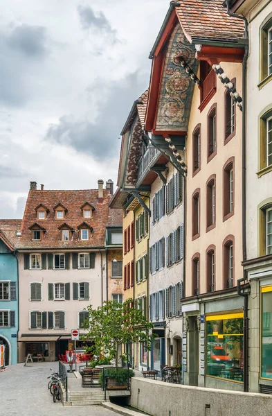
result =
[[[248,60],[248,21],[246,17],[230,12],[230,0],[226,2],[227,13],[229,16],[237,17],[237,19],[244,20],[244,38],[246,40],[246,47],[244,58],[242,62],[242,98],[243,98],[243,112],[242,112],[242,250],[243,261],[246,260],[246,65]],[[237,293],[244,297],[244,392],[248,392],[248,294],[244,293],[241,288],[241,283],[246,281],[246,270],[241,279],[237,281]]]

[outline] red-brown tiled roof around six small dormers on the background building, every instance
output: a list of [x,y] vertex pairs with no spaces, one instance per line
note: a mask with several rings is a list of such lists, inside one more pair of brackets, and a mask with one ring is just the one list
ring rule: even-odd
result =
[[[81,248],[81,247],[105,247],[106,225],[109,216],[109,198],[108,189],[103,189],[103,202],[98,202],[98,189],[87,189],[82,191],[34,191],[28,193],[24,218],[21,223],[21,237],[16,243],[18,249],[38,249],[38,248]],[[94,207],[92,218],[82,218],[82,205],[88,202]],[[37,219],[35,207],[45,205],[50,212],[46,219]],[[68,210],[65,218],[56,219],[54,207],[62,204]],[[116,210],[114,210],[116,211]],[[85,222],[93,228],[89,240],[80,240],[78,226]],[[42,241],[32,241],[29,227],[34,223],[39,224],[46,229]],[[64,223],[69,224],[75,231],[71,241],[62,241],[60,239],[60,230],[58,227]]]

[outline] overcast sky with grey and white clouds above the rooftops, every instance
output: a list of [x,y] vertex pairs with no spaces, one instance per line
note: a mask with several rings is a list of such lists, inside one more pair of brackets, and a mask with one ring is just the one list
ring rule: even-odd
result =
[[148,86],[169,0],[1,0],[0,218],[29,182],[116,184],[120,130]]

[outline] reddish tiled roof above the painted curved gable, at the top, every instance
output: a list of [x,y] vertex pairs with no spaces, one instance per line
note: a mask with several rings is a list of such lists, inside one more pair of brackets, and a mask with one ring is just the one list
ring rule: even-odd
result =
[[188,40],[236,41],[244,37],[244,21],[230,17],[221,0],[179,0],[176,14]]

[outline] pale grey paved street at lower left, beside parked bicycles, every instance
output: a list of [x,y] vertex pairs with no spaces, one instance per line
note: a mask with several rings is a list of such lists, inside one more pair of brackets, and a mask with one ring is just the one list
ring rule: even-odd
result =
[[[1,416],[111,416],[111,410],[102,406],[64,407],[53,403],[47,388],[50,368],[58,370],[57,363],[30,363],[11,365],[0,372]],[[116,414],[116,413],[115,413]]]

